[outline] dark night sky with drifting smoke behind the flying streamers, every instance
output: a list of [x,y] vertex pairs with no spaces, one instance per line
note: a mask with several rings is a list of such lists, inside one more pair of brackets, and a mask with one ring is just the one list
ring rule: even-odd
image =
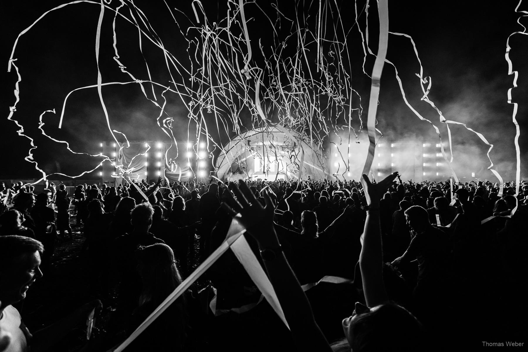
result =
[[[29,26],[45,11],[64,2],[2,2],[0,9],[4,14],[2,21],[2,99],[0,99],[3,118],[0,119],[2,131],[2,150],[5,155],[3,167],[0,168],[0,178],[40,178],[41,175],[34,166],[24,161],[30,148],[30,142],[16,134],[14,122],[8,121],[9,107],[13,106],[13,94],[16,73],[7,72],[8,59],[18,33]],[[204,10],[210,22],[219,21],[225,16],[225,3],[203,1]],[[283,4],[284,3],[284,4]],[[353,2],[342,3],[341,18],[343,22],[353,23]],[[352,3],[352,6],[351,6]],[[110,6],[115,7],[118,3]],[[178,7],[191,20],[194,14],[191,1],[169,1],[172,8]],[[183,4],[183,5],[182,5]],[[271,17],[276,12],[267,1],[257,1],[263,10]],[[293,15],[293,7],[288,2],[279,2],[279,9],[286,16]],[[364,7],[364,1],[357,2],[357,8]],[[190,62],[186,52],[187,42],[180,34],[172,16],[168,13],[163,1],[137,2],[143,9],[150,24],[161,36],[166,49],[171,51],[178,60],[186,64]],[[306,1],[305,6],[309,7]],[[313,6],[318,6],[314,1]],[[513,75],[507,74],[507,62],[504,58],[506,39],[514,31],[523,28],[516,23],[519,16],[514,12],[517,1],[391,1],[389,2],[389,30],[406,33],[416,42],[418,53],[423,65],[424,75],[432,78],[429,99],[444,113],[449,120],[468,124],[468,127],[482,132],[489,142],[495,145],[491,158],[496,170],[504,180],[515,177],[515,128],[512,123],[513,105],[507,103],[507,90],[512,87]],[[232,5],[233,6],[233,5]],[[267,32],[260,30],[266,18],[255,11],[251,4],[245,6],[247,16],[254,16],[248,23],[255,62],[258,64],[258,40],[264,44],[269,39]],[[95,37],[100,6],[96,4],[69,5],[46,16],[32,30],[23,35],[18,42],[14,57],[20,68],[22,82],[20,83],[21,101],[13,116],[20,120],[28,135],[35,138],[39,146],[34,150],[34,158],[46,173],[60,170],[67,174],[79,174],[95,167],[100,158],[73,156],[63,145],[52,142],[40,134],[37,129],[39,116],[45,110],[56,110],[56,114],[44,115],[44,130],[50,136],[67,140],[72,149],[91,154],[97,154],[99,143],[110,141],[111,137],[106,127],[106,121],[99,103],[96,89],[85,90],[72,94],[66,107],[64,125],[58,129],[62,102],[65,95],[73,89],[84,85],[97,83],[97,67],[95,60]],[[520,10],[528,11],[528,5],[522,4]],[[312,12],[313,13],[313,12]],[[178,23],[183,31],[191,24],[183,15],[177,15]],[[107,12],[103,21],[101,33],[100,67],[103,82],[129,81],[121,73],[112,56],[112,13]],[[377,9],[371,2],[369,9],[369,25],[371,43],[375,52],[377,47]],[[528,17],[526,17],[528,18]],[[364,31],[364,13],[360,17],[360,27]],[[262,22],[260,22],[262,21]],[[521,23],[528,25],[528,20]],[[269,24],[269,22],[268,22]],[[120,24],[119,53],[122,62],[130,71],[134,70],[138,77],[144,78],[145,66],[141,53],[137,50],[137,32],[133,27]],[[357,30],[348,37],[347,44],[351,54],[362,60],[361,39]],[[521,161],[526,160],[528,144],[526,134],[528,123],[526,116],[528,104],[526,94],[528,88],[528,36],[516,34],[510,44],[510,57],[514,70],[519,72],[518,88],[513,90],[513,101],[519,103],[517,120],[521,126]],[[148,43],[144,43],[143,55],[150,62],[154,80],[169,84],[166,69],[163,69],[163,56]],[[311,58],[313,59],[313,58]],[[433,121],[442,132],[442,139],[447,141],[445,125],[441,124],[437,112],[429,104],[420,101],[422,92],[415,73],[419,72],[419,64],[414,56],[409,40],[402,36],[389,36],[387,59],[398,68],[412,106],[423,117]],[[315,59],[314,59],[315,60]],[[360,60],[360,61],[361,61]],[[374,56],[367,56],[366,72],[372,69]],[[158,62],[159,64],[154,64]],[[363,74],[361,66],[354,72],[355,88],[363,101],[366,123],[366,110],[369,98],[370,79]],[[103,89],[103,97],[108,107],[112,127],[124,131],[129,140],[167,140],[156,124],[158,110],[145,99],[137,84]],[[167,111],[175,119],[174,133],[178,140],[187,139],[187,110],[181,100],[172,97],[168,99]],[[416,140],[437,143],[438,139],[432,127],[427,122],[420,121],[404,104],[394,78],[394,69],[385,64],[378,109],[378,128],[388,140]],[[214,123],[210,123],[215,128]],[[191,126],[191,130],[194,127]],[[493,180],[493,174],[486,170],[489,161],[486,157],[486,146],[472,132],[463,127],[451,128],[454,142],[454,168],[459,177],[470,176],[476,172],[481,178]],[[366,132],[366,130],[365,130]],[[366,134],[366,133],[365,133]],[[220,133],[212,134],[224,144],[228,136]],[[191,135],[191,139],[194,136]],[[528,176],[528,167],[521,165],[521,177]],[[96,176],[94,176],[96,177]],[[52,176],[53,178],[53,176]]]

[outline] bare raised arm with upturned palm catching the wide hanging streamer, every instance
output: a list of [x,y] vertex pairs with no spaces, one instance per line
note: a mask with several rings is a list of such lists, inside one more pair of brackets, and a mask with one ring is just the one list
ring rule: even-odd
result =
[[362,177],[363,189],[368,206],[363,246],[360,254],[361,279],[366,305],[369,308],[388,300],[383,284],[383,256],[381,249],[380,198],[398,173],[385,177],[379,183],[371,183],[366,175]]

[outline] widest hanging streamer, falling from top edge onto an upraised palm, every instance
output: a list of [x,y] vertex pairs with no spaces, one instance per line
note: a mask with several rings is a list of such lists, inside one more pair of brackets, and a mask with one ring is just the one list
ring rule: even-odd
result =
[[[368,175],[374,160],[374,152],[376,149],[376,112],[378,111],[378,98],[380,96],[380,79],[387,54],[387,44],[389,41],[389,7],[387,0],[380,0],[378,2],[378,14],[380,17],[380,39],[378,44],[378,54],[372,69],[372,84],[370,88],[369,112],[367,115],[367,131],[369,133],[369,154],[363,166],[363,175]],[[367,26],[368,28],[368,26]],[[361,178],[363,183],[363,177]],[[365,188],[365,185],[363,185]],[[370,196],[365,193],[367,203],[370,203]]]

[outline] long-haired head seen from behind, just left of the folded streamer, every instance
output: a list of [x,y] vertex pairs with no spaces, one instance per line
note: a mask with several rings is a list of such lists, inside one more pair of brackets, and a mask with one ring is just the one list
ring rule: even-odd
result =
[[136,258],[143,282],[140,306],[149,301],[161,303],[182,282],[174,253],[168,245],[156,243],[140,248]]

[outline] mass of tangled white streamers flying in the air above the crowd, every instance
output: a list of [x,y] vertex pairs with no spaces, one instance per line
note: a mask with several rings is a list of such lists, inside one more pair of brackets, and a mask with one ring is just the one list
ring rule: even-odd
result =
[[[18,80],[15,83],[15,103],[11,107],[8,119],[15,121],[20,128],[19,135],[30,139],[31,149],[26,160],[33,163],[42,174],[41,180],[46,180],[50,175],[46,175],[37,161],[33,160],[32,151],[36,148],[33,138],[24,132],[20,122],[14,120],[16,105],[20,102],[19,83],[21,81],[20,72],[15,65],[15,52],[17,43],[22,40],[24,34],[39,22],[44,21],[50,12],[61,11],[65,6],[96,5],[99,8],[95,38],[97,84],[81,84],[80,88],[72,90],[64,97],[59,128],[62,127],[63,120],[68,118],[67,102],[71,94],[84,89],[97,89],[108,132],[112,139],[119,144],[120,152],[122,148],[127,148],[130,145],[122,132],[112,128],[112,116],[106,108],[102,87],[108,86],[112,89],[118,89],[121,85],[137,84],[145,99],[152,103],[152,106],[157,110],[156,123],[164,135],[174,142],[175,148],[177,148],[177,133],[182,135],[182,132],[177,131],[177,129],[181,130],[182,126],[181,123],[173,123],[175,118],[167,111],[168,98],[176,98],[186,110],[186,117],[189,121],[186,131],[187,140],[195,140],[197,143],[205,141],[209,156],[212,158],[220,155],[221,158],[228,158],[229,164],[231,164],[237,159],[237,155],[226,153],[223,149],[235,136],[242,135],[244,131],[277,129],[287,136],[287,143],[293,146],[290,148],[291,157],[281,158],[281,154],[284,153],[279,150],[280,148],[271,132],[262,134],[261,141],[262,146],[267,144],[271,147],[263,148],[261,154],[254,154],[255,157],[266,160],[268,164],[270,162],[280,164],[280,167],[278,166],[274,171],[265,168],[266,175],[275,174],[268,175],[269,179],[271,179],[269,176],[275,176],[277,179],[279,173],[284,173],[288,178],[302,180],[308,176],[308,169],[321,170],[324,175],[329,176],[332,173],[329,172],[326,161],[328,159],[328,147],[333,143],[331,137],[336,136],[340,140],[335,143],[337,153],[341,155],[343,163],[349,165],[347,168],[338,170],[338,174],[335,174],[337,178],[343,177],[345,172],[350,171],[351,140],[359,138],[363,130],[362,99],[357,88],[355,88],[357,83],[353,79],[356,79],[358,75],[365,75],[372,79],[369,116],[367,118],[370,146],[363,170],[364,173],[368,173],[376,144],[375,131],[381,134],[381,131],[375,128],[381,68],[383,62],[393,65],[385,59],[388,33],[406,36],[410,40],[420,66],[420,72],[417,73],[417,76],[420,79],[420,89],[423,93],[422,100],[435,109],[440,117],[440,122],[446,124],[450,150],[451,130],[449,125],[451,124],[466,127],[488,144],[488,158],[493,148],[493,145],[489,144],[482,134],[463,123],[446,119],[429,99],[428,94],[432,80],[430,77],[423,76],[422,63],[414,41],[407,34],[388,32],[386,1],[380,1],[378,4],[380,47],[376,54],[369,47],[369,1],[366,2],[361,11],[358,11],[359,8],[354,3],[353,21],[343,21],[342,15],[346,15],[348,19],[351,18],[351,14],[342,14],[341,10],[344,3],[338,4],[336,0],[319,0],[309,3],[280,2],[280,7],[279,3],[226,0],[223,7],[212,9],[204,7],[199,0],[194,0],[191,3],[192,13],[188,14],[180,9],[169,7],[164,1],[166,8],[163,8],[162,11],[168,11],[169,18],[172,19],[169,21],[174,21],[177,27],[175,32],[179,37],[178,40],[183,39],[186,43],[186,54],[184,55],[181,53],[175,55],[166,49],[167,46],[161,36],[158,35],[146,14],[134,1],[120,0],[114,1],[114,3],[115,6],[111,6],[113,5],[111,0],[101,0],[100,2],[78,0],[52,8],[25,28],[14,43],[8,62],[8,70],[14,67]],[[526,12],[518,11],[520,4],[521,2],[515,11],[526,16]],[[222,13],[215,13],[216,11]],[[214,21],[209,18],[211,13],[215,15]],[[112,17],[111,48],[103,46],[101,41],[102,33],[105,33],[103,31],[106,23],[103,21],[105,16]],[[362,24],[363,18],[366,21],[365,24]],[[93,20],[95,22],[96,18]],[[519,21],[517,22],[520,24]],[[119,40],[120,37],[117,35],[119,28],[124,28],[128,32],[130,32],[130,28],[133,28],[137,32],[139,62],[144,66],[127,68],[127,61],[130,60],[120,55],[119,49],[124,45],[127,45],[128,49],[130,41]],[[523,27],[523,31],[512,33],[510,37],[517,33],[527,34]],[[508,73],[514,74],[513,87],[516,87],[517,72],[513,71],[509,59],[510,37],[508,37],[506,44],[506,60],[508,61]],[[354,41],[354,39],[357,40]],[[144,55],[145,43],[154,45],[155,50],[161,54],[161,62],[153,61],[155,59],[152,59],[154,57],[152,55]],[[354,45],[359,46],[360,43],[361,49],[354,50],[356,49]],[[118,70],[117,72],[124,74],[125,77],[122,81],[103,81],[101,69],[106,71],[108,68],[101,67],[100,59],[108,56],[109,53],[112,55],[112,62],[115,64],[110,69]],[[360,56],[354,58],[356,53],[359,53]],[[372,77],[365,70],[368,55],[376,57]],[[359,63],[356,64],[356,61]],[[358,65],[361,66],[361,69]],[[165,80],[158,78],[161,76],[159,74],[161,69],[165,72]],[[452,177],[457,182],[458,178],[451,166],[452,150],[449,158],[441,141],[440,130],[430,120],[423,118],[407,101],[398,71],[395,70],[395,72],[403,101],[417,117],[431,123],[440,139],[442,156],[449,166]],[[508,102],[512,102],[511,90],[508,91]],[[517,104],[513,104],[513,122],[517,130],[515,145],[517,148],[516,176],[518,187],[520,174],[519,128],[515,118]],[[68,142],[46,134],[42,116],[40,121],[39,129],[43,136],[59,144],[65,144],[71,153],[90,155],[73,151]],[[343,135],[346,136],[346,134],[348,134],[348,138],[345,138],[345,149],[342,139]],[[122,142],[118,135],[124,137],[125,142]],[[246,151],[254,153],[249,149]],[[344,157],[345,155],[346,157]],[[116,158],[110,158],[106,155],[90,156],[98,158],[99,163],[95,169],[105,161],[119,164]],[[348,159],[345,161],[346,158]],[[213,159],[213,163],[215,161]],[[500,175],[492,168],[491,159],[490,163],[488,169],[497,176],[502,185]],[[130,169],[127,168],[126,163],[124,164],[116,165],[119,171],[118,176],[130,174]],[[244,170],[244,173],[249,176],[247,170]],[[67,176],[77,177],[76,175]],[[218,174],[217,176],[224,178],[225,175]]]

